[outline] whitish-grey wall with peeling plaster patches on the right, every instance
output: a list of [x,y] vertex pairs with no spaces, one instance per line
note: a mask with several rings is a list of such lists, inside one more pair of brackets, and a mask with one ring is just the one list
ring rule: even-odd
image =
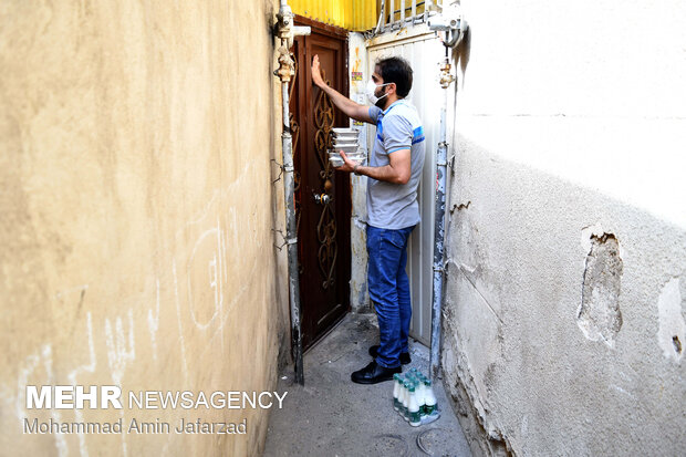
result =
[[461,4],[443,363],[475,455],[679,455],[686,7]]

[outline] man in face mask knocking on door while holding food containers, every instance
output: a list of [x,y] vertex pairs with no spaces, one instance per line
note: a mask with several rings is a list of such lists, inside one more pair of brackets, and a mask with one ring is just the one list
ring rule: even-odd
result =
[[424,166],[424,129],[417,110],[405,100],[412,89],[412,69],[399,58],[376,63],[367,84],[374,106],[360,105],[322,80],[319,56],[312,62],[312,82],[349,117],[376,124],[370,165],[355,165],[341,152],[340,172],[367,180],[367,285],[378,316],[380,345],[370,347],[374,361],[354,372],[358,384],[389,381],[409,363],[407,333],[412,318],[409,280],[405,273],[407,240],[419,222],[417,186]]

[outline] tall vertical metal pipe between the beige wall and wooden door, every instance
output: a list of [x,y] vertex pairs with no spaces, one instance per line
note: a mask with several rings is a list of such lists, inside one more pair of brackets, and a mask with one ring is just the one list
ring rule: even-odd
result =
[[291,310],[291,344],[293,347],[293,363],[295,365],[295,382],[304,385],[302,361],[302,332],[300,325],[300,274],[298,272],[298,222],[295,220],[295,180],[293,177],[293,142],[291,136],[289,112],[289,83],[294,74],[290,49],[293,38],[299,34],[310,34],[309,27],[293,27],[293,12],[287,0],[281,0],[279,8],[278,31],[281,39],[279,48],[280,67],[274,72],[281,79],[281,104],[283,106],[283,125],[281,132],[281,149],[283,150],[283,194],[285,200],[285,245],[288,245],[288,278],[289,300]]

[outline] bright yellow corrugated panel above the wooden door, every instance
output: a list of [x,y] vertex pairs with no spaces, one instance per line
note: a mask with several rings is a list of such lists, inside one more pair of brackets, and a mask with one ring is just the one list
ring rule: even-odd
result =
[[378,19],[376,0],[290,0],[295,14],[353,31],[373,29]]

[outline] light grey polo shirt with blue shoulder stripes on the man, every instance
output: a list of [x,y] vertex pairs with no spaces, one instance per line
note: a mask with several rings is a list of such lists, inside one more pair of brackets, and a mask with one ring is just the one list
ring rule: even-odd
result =
[[417,187],[424,167],[426,142],[417,108],[398,100],[386,111],[370,106],[370,117],[376,121],[376,139],[370,154],[370,165],[388,165],[388,155],[409,149],[410,175],[407,184],[393,184],[367,177],[367,224],[376,228],[402,229],[419,222]]

